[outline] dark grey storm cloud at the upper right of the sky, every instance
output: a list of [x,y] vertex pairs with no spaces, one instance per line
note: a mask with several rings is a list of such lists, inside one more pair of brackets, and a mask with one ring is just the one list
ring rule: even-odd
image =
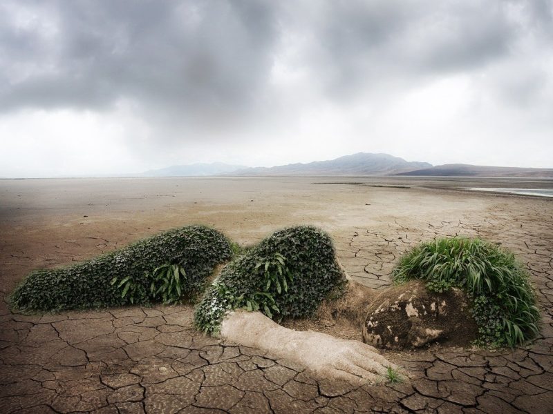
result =
[[315,31],[310,57],[330,91],[339,95],[393,78],[470,71],[508,55],[520,25],[505,4],[435,1],[341,1],[321,14],[297,16]]

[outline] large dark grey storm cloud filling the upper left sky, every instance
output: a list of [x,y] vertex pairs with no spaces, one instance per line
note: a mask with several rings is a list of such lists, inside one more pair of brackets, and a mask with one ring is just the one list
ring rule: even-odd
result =
[[273,16],[256,1],[11,6],[0,22],[5,110],[103,108],[121,97],[162,110],[236,108],[255,95],[271,64]]

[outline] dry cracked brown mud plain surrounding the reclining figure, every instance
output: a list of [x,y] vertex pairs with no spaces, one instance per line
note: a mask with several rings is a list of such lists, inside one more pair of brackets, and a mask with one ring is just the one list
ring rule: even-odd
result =
[[[0,412],[553,410],[551,200],[311,181],[0,181]],[[413,378],[359,387],[204,337],[192,327],[189,306],[48,315],[8,310],[7,295],[33,268],[78,262],[197,222],[243,243],[291,224],[321,226],[334,237],[346,270],[373,288],[390,284],[395,259],[414,244],[478,235],[512,249],[529,268],[542,336],[516,351],[433,346],[387,352]]]

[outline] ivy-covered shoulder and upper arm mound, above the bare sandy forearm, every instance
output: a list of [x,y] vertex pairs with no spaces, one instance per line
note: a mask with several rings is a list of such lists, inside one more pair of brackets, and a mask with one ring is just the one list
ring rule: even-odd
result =
[[196,326],[216,333],[225,312],[236,308],[272,319],[312,315],[344,281],[326,233],[312,226],[279,230],[223,268],[196,308]]

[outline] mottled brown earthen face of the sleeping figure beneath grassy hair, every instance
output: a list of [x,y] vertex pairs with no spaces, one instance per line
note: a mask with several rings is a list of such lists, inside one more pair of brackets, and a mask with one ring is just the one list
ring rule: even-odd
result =
[[384,290],[368,306],[363,325],[364,342],[378,348],[417,348],[435,341],[464,346],[477,337],[462,290],[435,293],[420,281]]

